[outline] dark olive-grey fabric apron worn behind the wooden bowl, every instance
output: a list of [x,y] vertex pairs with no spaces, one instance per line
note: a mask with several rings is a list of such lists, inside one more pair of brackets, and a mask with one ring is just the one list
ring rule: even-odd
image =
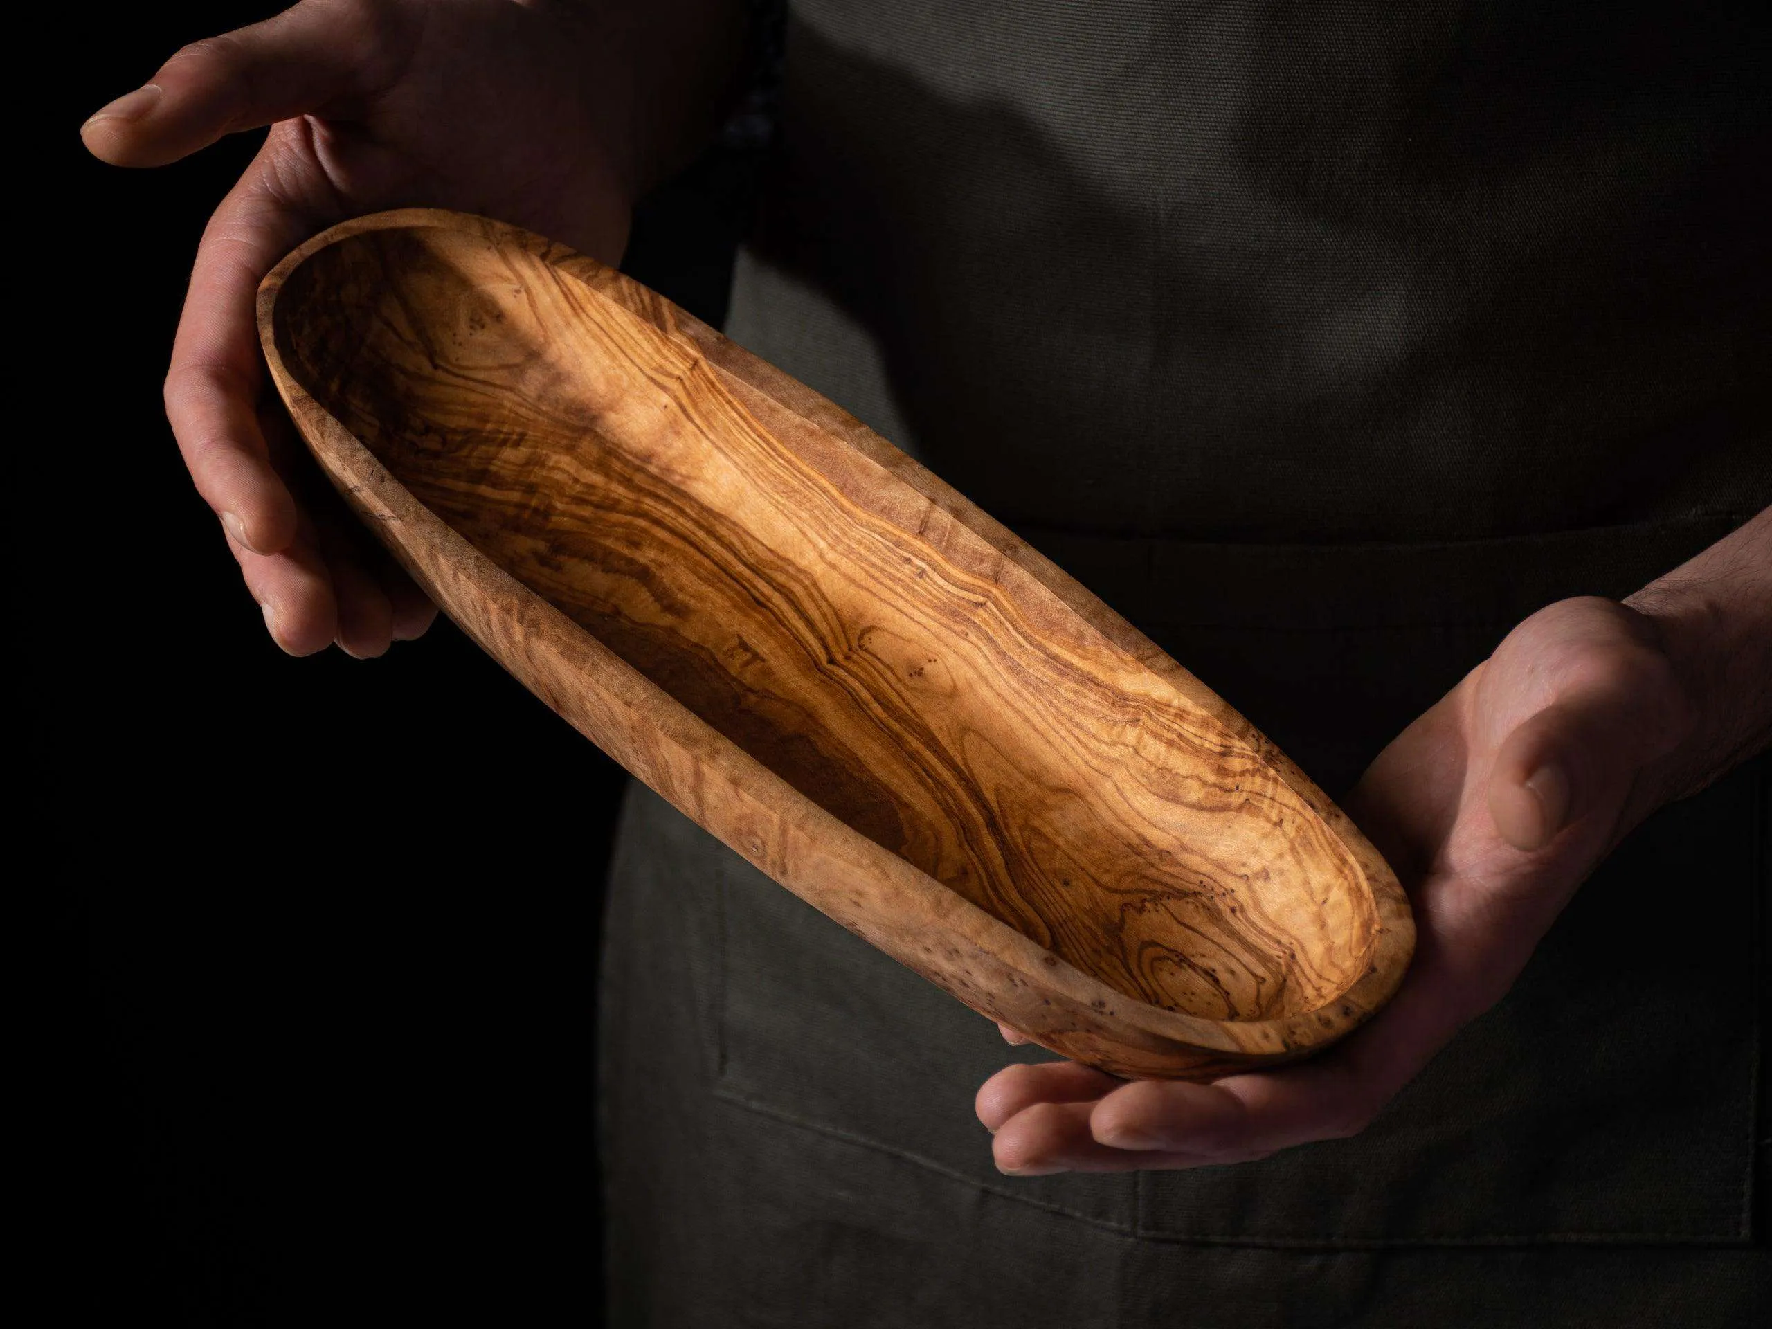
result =
[[[796,5],[728,331],[1341,794],[1519,618],[1772,501],[1753,34],[1607,12]],[[973,1093],[1042,1054],[636,789],[613,1322],[1747,1324],[1768,797],[1644,824],[1359,1138],[1006,1178]]]

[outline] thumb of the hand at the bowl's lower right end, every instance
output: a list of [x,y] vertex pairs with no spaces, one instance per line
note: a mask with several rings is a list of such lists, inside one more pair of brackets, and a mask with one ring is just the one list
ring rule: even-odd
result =
[[1616,813],[1637,771],[1690,728],[1685,693],[1659,650],[1618,645],[1588,664],[1496,757],[1488,812],[1515,849],[1543,849],[1586,817]]

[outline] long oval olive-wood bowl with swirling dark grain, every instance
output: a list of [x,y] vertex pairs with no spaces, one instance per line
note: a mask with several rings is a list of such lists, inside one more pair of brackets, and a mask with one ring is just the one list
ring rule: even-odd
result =
[[259,291],[271,376],[431,597],[790,891],[1122,1076],[1302,1056],[1414,946],[1255,727],[812,390],[626,276],[439,211]]

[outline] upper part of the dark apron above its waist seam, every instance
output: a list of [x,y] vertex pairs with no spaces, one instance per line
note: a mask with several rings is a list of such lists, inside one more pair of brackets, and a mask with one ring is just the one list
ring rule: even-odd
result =
[[1772,9],[799,0],[730,331],[1010,526],[1772,489]]

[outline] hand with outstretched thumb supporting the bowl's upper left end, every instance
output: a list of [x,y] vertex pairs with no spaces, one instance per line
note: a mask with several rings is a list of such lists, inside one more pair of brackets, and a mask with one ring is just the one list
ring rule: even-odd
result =
[[197,491],[284,650],[337,641],[379,656],[436,610],[292,445],[259,356],[259,280],[328,225],[420,204],[618,262],[649,152],[631,39],[562,4],[303,0],[186,46],[82,126],[87,147],[120,167],[271,126],[204,230],[165,397]]

